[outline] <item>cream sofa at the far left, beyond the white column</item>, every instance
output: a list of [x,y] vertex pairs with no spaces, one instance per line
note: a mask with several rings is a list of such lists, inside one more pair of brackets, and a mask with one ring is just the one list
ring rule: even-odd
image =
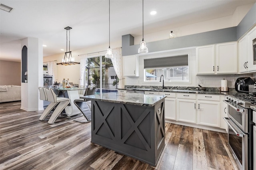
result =
[[21,86],[0,85],[0,103],[21,100]]

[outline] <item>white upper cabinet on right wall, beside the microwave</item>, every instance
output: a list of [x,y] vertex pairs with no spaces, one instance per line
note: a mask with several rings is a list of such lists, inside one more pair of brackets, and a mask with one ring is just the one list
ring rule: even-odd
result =
[[256,71],[256,65],[253,65],[252,40],[256,38],[256,27],[248,32],[238,42],[239,73]]

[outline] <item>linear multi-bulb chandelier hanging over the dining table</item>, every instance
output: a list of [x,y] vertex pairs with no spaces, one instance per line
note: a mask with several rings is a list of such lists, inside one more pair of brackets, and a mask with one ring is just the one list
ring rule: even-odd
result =
[[[70,30],[71,27],[64,28],[66,30],[66,52],[64,55],[64,59],[62,59],[61,63],[57,63],[57,65],[74,65],[74,64],[80,64],[79,62],[74,62],[75,58],[72,57],[71,51],[70,51]],[[69,49],[68,49],[68,32],[69,32]],[[68,51],[69,50],[69,51]],[[69,54],[69,55],[68,55]]]

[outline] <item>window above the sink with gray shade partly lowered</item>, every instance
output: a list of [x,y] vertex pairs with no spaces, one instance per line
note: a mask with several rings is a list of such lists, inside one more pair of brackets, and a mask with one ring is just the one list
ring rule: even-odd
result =
[[144,81],[189,81],[188,55],[144,59]]

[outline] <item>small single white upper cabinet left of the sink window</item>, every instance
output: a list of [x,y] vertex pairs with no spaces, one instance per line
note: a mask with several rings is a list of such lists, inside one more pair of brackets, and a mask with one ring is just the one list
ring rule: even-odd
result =
[[139,76],[139,57],[137,55],[124,56],[123,58],[124,76]]

